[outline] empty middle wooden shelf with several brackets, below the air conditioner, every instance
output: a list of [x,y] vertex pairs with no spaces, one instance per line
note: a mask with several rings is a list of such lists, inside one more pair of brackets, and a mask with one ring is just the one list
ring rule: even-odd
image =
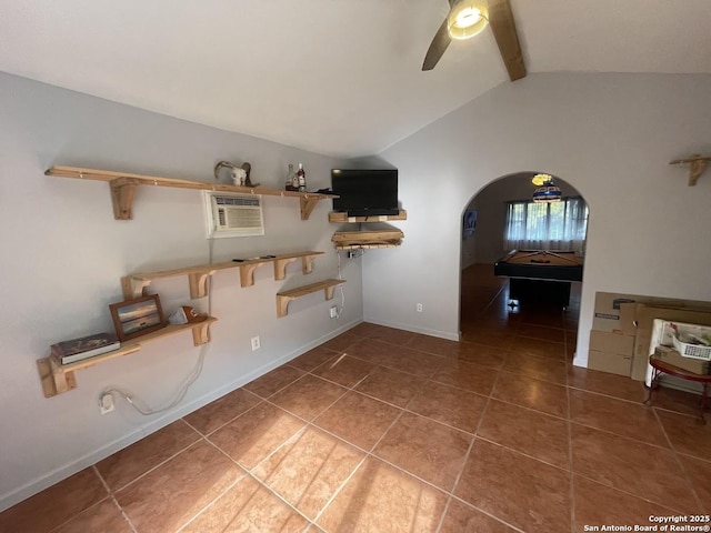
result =
[[173,278],[187,275],[190,285],[190,298],[204,298],[208,295],[208,278],[218,270],[240,269],[240,285],[251,286],[254,284],[254,271],[264,263],[274,264],[274,280],[283,280],[287,275],[287,264],[301,259],[301,271],[303,274],[313,272],[313,260],[324,252],[294,252],[282,253],[262,258],[246,259],[244,261],[228,261],[223,263],[199,264],[182,269],[160,270],[156,272],[139,272],[121,278],[123,296],[127,300],[140,298],[143,290],[153,280],[161,278]]

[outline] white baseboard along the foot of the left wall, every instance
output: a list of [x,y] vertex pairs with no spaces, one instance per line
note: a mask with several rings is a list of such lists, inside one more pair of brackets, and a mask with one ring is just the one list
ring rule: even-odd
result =
[[21,487],[16,489],[10,493],[3,494],[2,496],[0,496],[0,512],[7,509],[10,509],[13,505],[17,505],[18,503],[27,500],[28,497],[33,496],[34,494],[43,491],[44,489],[49,489],[50,486],[59,483],[60,481],[66,480],[67,477],[76,474],[77,472],[80,472],[91,466],[92,464],[98,463],[99,461],[108,457],[109,455],[112,455],[116,452],[123,450],[124,447],[130,446],[131,444],[134,444],[136,442],[150,435],[151,433],[154,433],[161,428],[164,428],[168,424],[173,423],[174,421],[186,416],[187,414],[192,413],[193,411],[197,411],[198,409],[207,405],[210,402],[218,400],[219,398],[222,398],[223,395],[234,391],[236,389],[239,389],[240,386],[246,385],[250,381],[253,381],[257,378],[260,378],[261,375],[266,374],[267,372],[270,372],[271,370],[276,369],[277,366],[280,366],[291,361],[292,359],[298,358],[299,355],[302,355],[309,350],[312,350],[316,346],[319,346],[324,342],[330,341],[331,339],[340,335],[341,333],[350,330],[351,328],[358,325],[361,322],[362,320],[360,319],[349,322],[348,324],[344,324],[338,328],[337,330],[333,330],[328,334],[319,339],[316,339],[300,346],[299,349],[293,350],[290,353],[274,361],[271,361],[268,364],[260,366],[259,369],[253,370],[249,374],[241,375],[239,379],[234,380],[231,383],[222,385],[219,389],[216,389],[213,391],[210,391],[209,393],[206,393],[202,396],[197,398],[184,405],[177,406],[174,410],[170,411],[169,413],[166,413],[164,415],[156,420],[152,420],[144,425],[141,425],[140,428],[138,428],[136,431],[132,431],[128,435],[117,439],[116,441],[107,445],[103,445],[100,449],[87,455],[83,455],[82,457],[76,461],[72,461],[63,466],[60,466],[42,475],[41,477],[38,477],[22,485]]

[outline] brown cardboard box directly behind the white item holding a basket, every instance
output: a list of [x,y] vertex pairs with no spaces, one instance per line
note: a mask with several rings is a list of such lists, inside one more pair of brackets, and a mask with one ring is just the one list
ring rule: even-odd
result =
[[[690,302],[698,303],[698,302]],[[699,302],[704,303],[704,302]],[[632,379],[644,381],[647,364],[650,355],[650,341],[654,319],[685,322],[690,324],[711,325],[711,309],[674,309],[659,308],[648,304],[637,304],[634,321],[637,335],[634,336],[634,358],[632,360]]]

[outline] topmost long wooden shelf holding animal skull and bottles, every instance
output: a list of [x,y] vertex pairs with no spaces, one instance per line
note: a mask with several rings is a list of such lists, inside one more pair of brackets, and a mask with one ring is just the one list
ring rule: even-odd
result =
[[203,191],[241,192],[246,194],[263,194],[267,197],[298,198],[301,208],[301,220],[308,220],[320,200],[338,198],[334,194],[317,192],[281,191],[263,187],[239,187],[203,181],[177,180],[157,175],[133,174],[110,170],[83,169],[79,167],[54,165],[44,172],[58,178],[78,178],[82,180],[106,181],[111,189],[113,217],[117,220],[133,219],[133,197],[138,185],[172,187],[178,189],[197,189]]

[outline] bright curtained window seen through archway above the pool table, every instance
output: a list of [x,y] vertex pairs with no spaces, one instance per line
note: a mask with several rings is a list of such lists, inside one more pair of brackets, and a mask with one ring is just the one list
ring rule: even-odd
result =
[[587,229],[588,205],[582,198],[552,203],[509,202],[504,250],[582,252]]

